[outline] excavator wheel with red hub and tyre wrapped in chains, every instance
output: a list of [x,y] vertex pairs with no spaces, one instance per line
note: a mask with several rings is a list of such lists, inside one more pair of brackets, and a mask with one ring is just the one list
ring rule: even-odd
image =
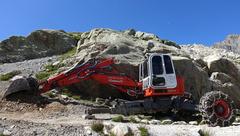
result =
[[208,92],[200,99],[199,104],[203,120],[210,126],[225,127],[235,121],[234,103],[223,92]]

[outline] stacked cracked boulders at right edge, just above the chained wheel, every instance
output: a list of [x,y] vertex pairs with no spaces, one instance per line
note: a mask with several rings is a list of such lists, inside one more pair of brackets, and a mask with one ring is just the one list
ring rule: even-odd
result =
[[220,56],[208,56],[205,58],[212,89],[228,94],[240,106],[240,69],[232,60]]

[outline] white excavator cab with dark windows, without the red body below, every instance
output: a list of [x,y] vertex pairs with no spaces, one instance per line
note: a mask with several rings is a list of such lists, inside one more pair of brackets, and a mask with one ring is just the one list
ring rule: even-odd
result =
[[151,54],[139,67],[143,89],[153,87],[175,88],[177,86],[175,69],[169,55]]

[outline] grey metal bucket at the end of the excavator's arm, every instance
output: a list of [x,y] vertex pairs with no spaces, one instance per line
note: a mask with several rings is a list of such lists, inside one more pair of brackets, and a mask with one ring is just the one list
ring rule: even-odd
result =
[[0,86],[0,99],[20,91],[34,91],[38,89],[37,80],[32,77],[15,76],[10,81],[3,82]]

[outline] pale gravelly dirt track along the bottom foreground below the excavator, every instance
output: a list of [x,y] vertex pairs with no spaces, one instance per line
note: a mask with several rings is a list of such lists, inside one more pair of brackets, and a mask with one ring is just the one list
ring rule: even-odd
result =
[[[13,135],[89,135],[85,129],[90,126],[93,120],[84,120],[79,115],[59,116],[55,113],[42,114],[37,112],[27,113],[0,113],[0,126],[12,132]],[[101,117],[102,115],[98,115]],[[108,116],[108,115],[104,115]],[[199,130],[207,132],[210,136],[239,136],[240,126],[230,127],[207,127],[206,125],[144,125],[134,123],[115,123],[109,120],[104,124],[127,125],[135,135],[140,135],[138,127],[144,126],[152,136],[200,136]],[[98,135],[92,132],[91,135]]]

